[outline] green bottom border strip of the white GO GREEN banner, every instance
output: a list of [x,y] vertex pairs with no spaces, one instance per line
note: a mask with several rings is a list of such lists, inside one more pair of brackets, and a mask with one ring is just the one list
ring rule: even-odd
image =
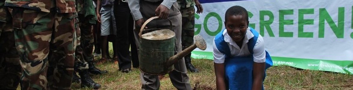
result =
[[[195,59],[213,60],[212,52],[193,51],[191,54]],[[349,60],[319,60],[319,59],[302,59],[302,58],[286,58],[271,56],[274,66],[287,65],[306,70],[319,70],[353,74],[353,61]]]

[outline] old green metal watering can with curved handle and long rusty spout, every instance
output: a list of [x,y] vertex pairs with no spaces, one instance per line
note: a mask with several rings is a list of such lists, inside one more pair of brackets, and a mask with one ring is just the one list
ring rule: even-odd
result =
[[[152,17],[141,26],[139,36],[139,69],[141,72],[151,75],[167,74],[174,69],[174,64],[192,50],[199,48],[205,50],[207,45],[205,40],[199,36],[194,36],[192,46],[177,53],[175,48],[175,33],[173,24],[169,20],[170,29],[147,29],[144,30],[147,23],[158,17]],[[177,53],[175,55],[175,53]]]

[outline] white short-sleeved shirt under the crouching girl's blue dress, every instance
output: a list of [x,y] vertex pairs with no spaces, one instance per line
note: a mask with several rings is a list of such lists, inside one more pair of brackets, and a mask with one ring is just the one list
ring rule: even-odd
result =
[[[224,41],[228,44],[229,49],[231,49],[231,55],[234,56],[249,56],[251,53],[249,52],[249,49],[247,48],[247,42],[249,42],[249,39],[254,37],[252,32],[250,31],[250,28],[246,30],[246,34],[244,37],[243,41],[243,46],[241,48],[235,43],[232,38],[228,35],[227,29],[223,31],[224,35]],[[253,60],[254,62],[262,63],[265,62],[265,43],[261,35],[258,36],[257,42],[255,44],[255,47],[253,49]],[[213,57],[214,57],[214,62],[217,64],[222,64],[225,61],[225,54],[221,53],[215,44],[215,41],[213,40]]]

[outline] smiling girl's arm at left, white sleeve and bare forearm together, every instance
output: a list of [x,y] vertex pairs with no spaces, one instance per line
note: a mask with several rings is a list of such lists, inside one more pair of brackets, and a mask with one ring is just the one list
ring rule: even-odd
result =
[[217,90],[226,90],[226,79],[225,79],[225,54],[221,53],[213,41],[213,61],[216,74],[216,86]]

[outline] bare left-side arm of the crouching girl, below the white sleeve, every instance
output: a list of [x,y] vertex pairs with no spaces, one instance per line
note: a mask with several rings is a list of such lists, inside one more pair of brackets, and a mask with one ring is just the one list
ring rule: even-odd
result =
[[226,90],[224,63],[214,63],[217,90]]

